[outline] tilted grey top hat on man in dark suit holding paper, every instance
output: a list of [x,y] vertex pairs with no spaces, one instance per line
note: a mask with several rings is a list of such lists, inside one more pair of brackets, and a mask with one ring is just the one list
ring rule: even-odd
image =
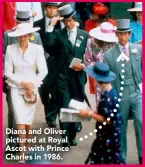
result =
[[72,6],[68,4],[58,8],[58,13],[65,20],[74,16],[76,14],[76,11],[73,11]]

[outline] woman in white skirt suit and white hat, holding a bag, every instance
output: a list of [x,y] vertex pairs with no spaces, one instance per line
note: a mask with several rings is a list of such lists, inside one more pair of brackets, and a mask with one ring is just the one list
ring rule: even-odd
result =
[[[9,45],[5,58],[5,76],[11,87],[11,98],[14,109],[14,116],[17,126],[18,138],[25,140],[19,142],[19,148],[23,155],[28,151],[27,139],[32,129],[34,112],[38,101],[38,87],[47,74],[47,66],[42,46],[29,42],[30,34],[38,31],[30,23],[17,25],[15,31],[8,33],[10,37],[17,37],[18,43]],[[39,72],[36,74],[36,70]],[[21,132],[20,132],[21,131]],[[22,156],[19,163],[25,163]]]

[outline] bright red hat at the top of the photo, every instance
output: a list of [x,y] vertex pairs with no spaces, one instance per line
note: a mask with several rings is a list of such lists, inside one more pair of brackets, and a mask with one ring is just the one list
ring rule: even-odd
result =
[[103,3],[95,3],[93,12],[97,15],[106,15],[108,13],[108,8]]

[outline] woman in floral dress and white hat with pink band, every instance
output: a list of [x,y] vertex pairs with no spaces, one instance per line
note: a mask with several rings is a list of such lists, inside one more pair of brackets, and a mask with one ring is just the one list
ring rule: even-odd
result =
[[[99,27],[92,29],[89,34],[91,38],[88,39],[86,51],[84,54],[84,59],[86,65],[93,65],[96,62],[103,61],[103,53],[112,47],[118,38],[115,34],[115,27],[109,23],[104,22]],[[90,93],[96,94],[96,107],[98,106],[98,101],[100,94],[96,92],[94,79],[89,77]]]

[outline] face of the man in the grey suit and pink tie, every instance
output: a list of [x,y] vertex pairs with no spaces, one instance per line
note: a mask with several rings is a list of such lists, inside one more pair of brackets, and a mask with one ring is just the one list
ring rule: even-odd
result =
[[130,32],[116,32],[116,36],[118,37],[119,43],[124,46],[128,42]]

